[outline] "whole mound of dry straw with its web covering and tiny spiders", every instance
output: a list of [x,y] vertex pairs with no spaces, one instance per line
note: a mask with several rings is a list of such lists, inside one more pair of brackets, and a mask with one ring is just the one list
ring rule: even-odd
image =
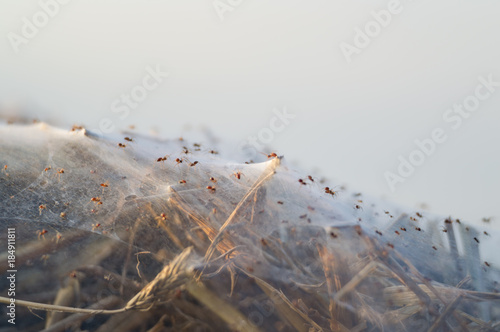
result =
[[483,239],[498,234],[325,189],[273,154],[230,163],[214,149],[1,127],[0,222],[22,248],[18,298],[127,310],[46,323],[26,311],[24,324],[498,329],[499,273],[480,257]]

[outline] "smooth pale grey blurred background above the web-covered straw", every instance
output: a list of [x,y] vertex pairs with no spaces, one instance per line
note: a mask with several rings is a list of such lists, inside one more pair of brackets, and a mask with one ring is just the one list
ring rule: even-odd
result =
[[275,151],[332,187],[498,226],[499,12],[494,0],[4,0],[0,113],[208,130],[235,155]]

